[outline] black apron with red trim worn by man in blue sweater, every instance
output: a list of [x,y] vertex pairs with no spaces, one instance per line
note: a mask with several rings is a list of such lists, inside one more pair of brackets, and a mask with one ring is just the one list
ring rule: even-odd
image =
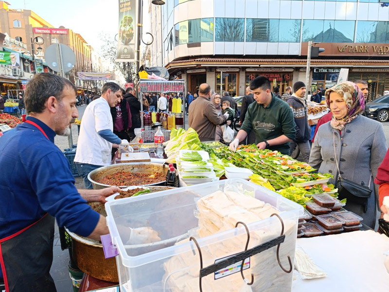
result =
[[[28,124],[46,133],[34,122]],[[54,217],[41,219],[0,239],[0,263],[6,292],[56,292],[50,275],[53,263]]]

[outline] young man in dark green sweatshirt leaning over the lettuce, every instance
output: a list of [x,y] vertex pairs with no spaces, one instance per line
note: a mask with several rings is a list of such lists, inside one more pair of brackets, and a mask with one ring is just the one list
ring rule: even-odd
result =
[[230,144],[235,151],[239,142],[252,130],[259,149],[278,150],[289,153],[289,143],[296,137],[296,125],[289,105],[276,98],[270,91],[271,83],[265,76],[258,76],[250,83],[256,102],[247,110],[245,121]]

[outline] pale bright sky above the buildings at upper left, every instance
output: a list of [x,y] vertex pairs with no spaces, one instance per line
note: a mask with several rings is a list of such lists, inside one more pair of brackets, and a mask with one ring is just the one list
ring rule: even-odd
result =
[[[28,9],[45,19],[53,27],[64,26],[80,34],[97,52],[100,51],[99,34],[114,40],[118,33],[118,0],[7,0],[12,9]],[[147,0],[143,1],[147,2]],[[143,19],[147,8],[143,9]],[[147,31],[148,23],[143,23]]]

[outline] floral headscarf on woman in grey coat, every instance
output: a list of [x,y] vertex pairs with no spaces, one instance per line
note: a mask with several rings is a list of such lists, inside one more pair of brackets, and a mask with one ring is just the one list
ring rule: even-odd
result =
[[357,115],[362,114],[365,110],[365,97],[359,87],[350,81],[341,82],[325,91],[325,101],[327,107],[330,108],[330,93],[334,91],[340,96],[343,96],[347,105],[346,116],[342,119],[336,119],[333,115],[331,120],[331,127],[334,129],[342,130],[344,125],[354,120]]

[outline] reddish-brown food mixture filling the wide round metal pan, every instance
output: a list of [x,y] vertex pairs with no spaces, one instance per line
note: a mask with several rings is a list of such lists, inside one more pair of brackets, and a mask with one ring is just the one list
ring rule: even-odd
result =
[[108,174],[105,177],[97,180],[98,183],[109,185],[144,185],[158,183],[165,180],[165,176],[161,173],[155,173],[155,177],[150,178],[149,173],[119,171],[113,174]]

